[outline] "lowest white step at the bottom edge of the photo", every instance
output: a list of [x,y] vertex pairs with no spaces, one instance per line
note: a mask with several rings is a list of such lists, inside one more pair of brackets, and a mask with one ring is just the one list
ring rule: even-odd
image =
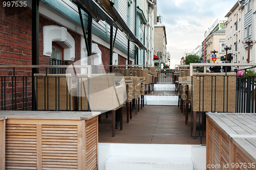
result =
[[151,169],[189,169],[193,170],[191,158],[174,157],[138,157],[138,156],[110,156],[105,164],[106,170],[151,170]]

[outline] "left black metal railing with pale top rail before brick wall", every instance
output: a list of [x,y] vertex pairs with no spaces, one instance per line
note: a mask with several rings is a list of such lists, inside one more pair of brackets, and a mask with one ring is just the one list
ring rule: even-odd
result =
[[[0,110],[71,111],[71,88],[74,85],[72,80],[77,78],[76,76],[66,78],[63,74],[52,76],[51,70],[86,68],[87,78],[91,77],[92,71],[91,66],[68,67],[68,65],[0,65],[0,70],[7,73],[0,76]],[[38,68],[40,74],[32,75],[32,68]],[[75,74],[80,74],[80,71],[76,69]],[[38,101],[42,103],[40,106]],[[62,103],[65,101],[63,103],[65,107],[62,109],[61,101]]]

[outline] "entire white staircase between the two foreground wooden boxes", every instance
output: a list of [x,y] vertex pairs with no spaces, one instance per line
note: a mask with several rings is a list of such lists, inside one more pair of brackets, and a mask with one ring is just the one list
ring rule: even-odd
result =
[[196,145],[99,143],[99,170],[193,170],[206,163],[205,154]]

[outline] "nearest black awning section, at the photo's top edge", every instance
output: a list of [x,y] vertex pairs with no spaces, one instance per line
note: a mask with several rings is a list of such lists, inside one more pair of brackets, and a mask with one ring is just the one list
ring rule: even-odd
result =
[[102,8],[100,8],[94,1],[92,0],[71,0],[77,7],[81,8],[86,13],[90,13],[95,20],[96,17],[100,18],[101,20],[106,21],[109,25],[113,24],[113,19],[106,14]]

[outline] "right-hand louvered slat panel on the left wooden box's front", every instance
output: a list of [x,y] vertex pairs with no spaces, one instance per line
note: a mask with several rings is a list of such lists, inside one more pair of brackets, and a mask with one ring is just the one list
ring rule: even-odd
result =
[[77,126],[42,125],[42,169],[77,169]]

